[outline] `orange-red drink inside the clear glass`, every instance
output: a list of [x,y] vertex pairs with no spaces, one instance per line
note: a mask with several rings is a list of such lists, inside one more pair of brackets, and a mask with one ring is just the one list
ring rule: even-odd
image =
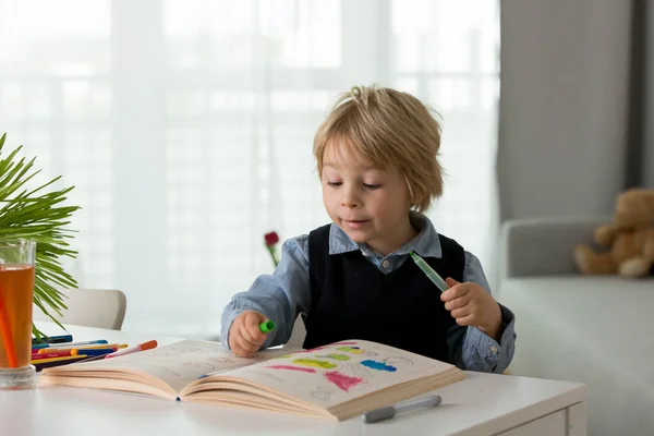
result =
[[32,353],[33,265],[0,268],[0,368],[29,365]]

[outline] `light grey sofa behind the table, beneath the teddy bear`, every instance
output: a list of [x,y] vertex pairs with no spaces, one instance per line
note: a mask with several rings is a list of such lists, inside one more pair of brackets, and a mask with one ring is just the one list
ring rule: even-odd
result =
[[509,370],[586,383],[589,435],[654,435],[654,278],[580,276],[573,263],[606,220],[504,225],[496,298],[516,314]]

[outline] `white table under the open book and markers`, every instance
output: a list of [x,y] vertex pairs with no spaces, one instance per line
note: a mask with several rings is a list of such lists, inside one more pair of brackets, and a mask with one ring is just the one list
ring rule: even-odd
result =
[[[62,331],[40,323],[48,335]],[[130,346],[157,339],[124,331],[69,326],[74,340],[107,339]],[[502,435],[586,434],[582,384],[469,372],[464,380],[437,390],[443,404],[364,424],[341,423],[143,396],[66,387],[0,390],[0,434],[53,435]]]

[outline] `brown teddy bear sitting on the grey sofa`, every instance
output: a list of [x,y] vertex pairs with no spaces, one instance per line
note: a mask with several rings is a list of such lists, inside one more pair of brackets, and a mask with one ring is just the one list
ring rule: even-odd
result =
[[654,190],[633,187],[618,195],[613,222],[594,231],[595,242],[574,247],[574,263],[583,275],[617,274],[641,278],[654,272]]

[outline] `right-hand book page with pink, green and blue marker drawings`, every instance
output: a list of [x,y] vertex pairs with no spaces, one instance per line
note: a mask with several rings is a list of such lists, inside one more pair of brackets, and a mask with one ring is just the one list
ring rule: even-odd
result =
[[347,340],[276,356],[226,375],[330,408],[403,382],[440,374],[447,377],[451,371],[459,370],[392,347]]

